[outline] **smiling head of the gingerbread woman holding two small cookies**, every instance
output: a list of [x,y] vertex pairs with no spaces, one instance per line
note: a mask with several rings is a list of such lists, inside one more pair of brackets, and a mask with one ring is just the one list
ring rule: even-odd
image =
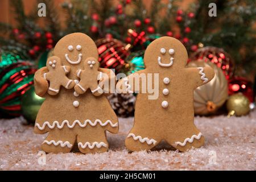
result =
[[54,48],[54,55],[60,58],[63,65],[69,66],[83,65],[88,57],[98,59],[96,44],[82,33],[69,34],[60,39]]

